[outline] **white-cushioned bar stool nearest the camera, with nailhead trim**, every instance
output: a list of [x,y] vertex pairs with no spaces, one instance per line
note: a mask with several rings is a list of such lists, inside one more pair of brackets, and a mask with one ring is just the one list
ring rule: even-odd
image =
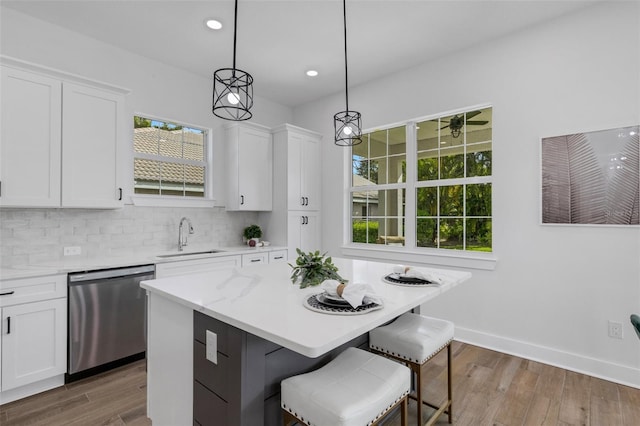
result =
[[283,424],[377,425],[401,406],[401,421],[406,426],[410,388],[411,371],[404,365],[348,348],[318,370],[281,382]]

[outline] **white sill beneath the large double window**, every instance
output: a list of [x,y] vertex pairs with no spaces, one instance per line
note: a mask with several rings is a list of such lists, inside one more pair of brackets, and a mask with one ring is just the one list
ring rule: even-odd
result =
[[481,269],[493,271],[498,259],[493,253],[455,252],[441,253],[433,250],[406,249],[394,246],[345,245],[342,255],[365,260],[434,265],[455,268]]

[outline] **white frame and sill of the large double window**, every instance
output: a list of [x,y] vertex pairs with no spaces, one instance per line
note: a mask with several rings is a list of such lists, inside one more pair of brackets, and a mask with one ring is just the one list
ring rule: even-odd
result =
[[[375,259],[382,261],[391,261],[398,263],[408,264],[426,264],[437,265],[446,267],[462,267],[482,270],[495,269],[496,258],[496,246],[495,239],[492,238],[492,252],[476,252],[469,250],[452,250],[442,248],[430,248],[430,247],[417,247],[416,246],[416,189],[425,186],[434,186],[434,183],[429,181],[417,180],[417,141],[416,141],[416,125],[417,123],[433,120],[440,117],[449,115],[460,114],[465,111],[473,111],[476,109],[493,108],[492,104],[481,104],[475,106],[469,106],[452,111],[445,111],[438,114],[432,114],[424,117],[414,118],[383,127],[375,127],[372,129],[363,130],[363,134],[370,133],[378,130],[385,130],[399,126],[406,126],[406,182],[403,184],[384,184],[384,185],[367,185],[358,186],[359,191],[367,190],[384,190],[384,189],[404,189],[405,190],[405,241],[404,246],[390,246],[384,244],[364,244],[352,242],[352,215],[351,215],[351,179],[352,179],[352,156],[351,149],[345,149],[344,151],[344,211],[343,211],[343,245],[342,255],[347,257],[359,258],[359,259]],[[492,151],[494,144],[492,143]],[[409,167],[409,165],[412,165]],[[492,184],[492,206],[494,203],[495,186],[493,181],[494,171],[492,170],[491,176],[486,177],[473,177],[464,178],[464,184],[473,183],[491,183]],[[447,184],[460,183],[460,180],[447,180]],[[442,181],[438,181],[435,185],[442,185]],[[495,219],[495,214],[492,208],[492,219]],[[492,232],[495,235],[495,228]]]

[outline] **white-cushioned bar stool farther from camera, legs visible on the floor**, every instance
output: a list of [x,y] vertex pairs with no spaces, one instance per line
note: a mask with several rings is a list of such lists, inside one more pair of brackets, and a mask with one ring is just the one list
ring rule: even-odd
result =
[[[435,423],[442,413],[449,415],[452,422],[451,401],[451,341],[454,325],[450,321],[406,313],[394,322],[369,332],[369,348],[390,358],[407,364],[416,375],[416,395],[410,398],[418,401],[418,424],[422,425],[422,404],[435,408],[425,425]],[[447,400],[441,406],[422,399],[422,366],[447,348]]]

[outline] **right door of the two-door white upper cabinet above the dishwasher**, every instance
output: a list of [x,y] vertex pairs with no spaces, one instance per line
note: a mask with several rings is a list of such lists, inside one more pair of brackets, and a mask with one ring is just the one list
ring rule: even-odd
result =
[[64,83],[62,206],[122,206],[118,143],[124,132],[122,95]]

